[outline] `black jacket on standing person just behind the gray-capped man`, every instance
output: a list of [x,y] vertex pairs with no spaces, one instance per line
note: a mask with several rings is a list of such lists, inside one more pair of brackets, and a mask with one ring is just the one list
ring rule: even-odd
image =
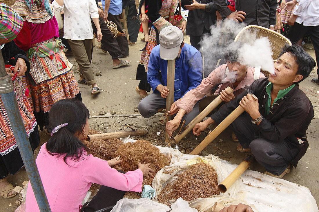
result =
[[[211,25],[216,23],[216,11],[217,7],[213,0],[199,0],[200,4],[206,4],[205,10],[196,9],[189,11],[186,25],[186,34],[189,36],[201,36],[204,31],[204,27],[207,31],[210,31]],[[182,8],[185,5],[182,1]]]

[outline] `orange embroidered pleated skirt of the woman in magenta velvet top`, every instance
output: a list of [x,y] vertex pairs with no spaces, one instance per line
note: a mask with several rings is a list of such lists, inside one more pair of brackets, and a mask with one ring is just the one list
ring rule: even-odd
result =
[[48,126],[48,112],[55,102],[73,98],[82,100],[78,82],[71,70],[53,79],[40,82],[36,86],[31,85],[27,76],[23,76],[22,80],[26,88],[31,91],[28,101],[41,130],[43,126]]

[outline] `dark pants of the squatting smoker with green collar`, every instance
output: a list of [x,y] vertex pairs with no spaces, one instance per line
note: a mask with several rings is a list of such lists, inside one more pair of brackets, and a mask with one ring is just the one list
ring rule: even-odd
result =
[[261,137],[254,139],[255,130],[248,113],[236,118],[230,128],[234,131],[241,146],[251,149],[258,163],[272,174],[283,173],[290,161],[299,153],[299,149],[286,140],[275,143]]

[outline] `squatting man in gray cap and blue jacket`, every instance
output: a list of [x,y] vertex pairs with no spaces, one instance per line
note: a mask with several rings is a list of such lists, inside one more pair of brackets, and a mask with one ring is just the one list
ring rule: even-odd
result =
[[[184,43],[182,31],[176,26],[167,26],[159,33],[159,45],[152,49],[148,63],[147,81],[154,93],[146,96],[138,104],[138,111],[145,118],[153,116],[166,107],[169,91],[167,85],[167,60],[175,59],[174,103],[185,93],[196,88],[202,81],[203,60],[200,52]],[[199,114],[198,103],[185,114],[188,124]],[[160,120],[161,121],[161,120]],[[161,124],[165,124],[164,120]]]

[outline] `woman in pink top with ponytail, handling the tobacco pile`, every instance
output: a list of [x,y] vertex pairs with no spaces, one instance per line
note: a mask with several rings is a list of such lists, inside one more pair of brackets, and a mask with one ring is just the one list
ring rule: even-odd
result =
[[[49,111],[52,138],[41,146],[36,164],[52,212],[78,212],[92,183],[102,186],[84,211],[114,206],[125,191],[141,192],[143,175],[154,172],[150,163],[140,163],[137,170],[120,173],[111,166],[122,160],[105,161],[88,155],[82,143],[89,130],[88,117],[85,105],[74,99],[60,100]],[[26,212],[31,211],[40,210],[29,183]]]

